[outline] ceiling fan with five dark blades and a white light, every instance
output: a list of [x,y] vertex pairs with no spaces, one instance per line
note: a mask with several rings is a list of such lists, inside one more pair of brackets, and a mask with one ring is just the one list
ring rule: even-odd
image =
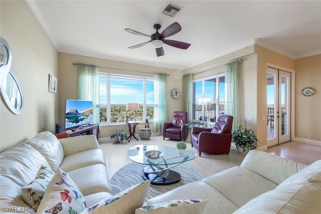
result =
[[167,45],[173,46],[175,48],[181,48],[184,50],[188,49],[191,45],[191,44],[188,44],[185,42],[165,39],[167,37],[173,36],[174,34],[177,34],[178,32],[180,32],[182,30],[181,26],[177,22],[175,22],[175,23],[171,24],[170,26],[168,26],[167,28],[165,28],[163,30],[163,32],[160,34],[159,34],[158,30],[161,29],[161,25],[155,24],[154,29],[156,30],[156,32],[150,36],[147,34],[143,34],[143,33],[131,30],[129,28],[125,29],[125,31],[127,31],[129,33],[150,38],[150,41],[148,41],[148,42],[144,42],[144,43],[134,45],[134,46],[131,46],[128,48],[130,48],[130,49],[138,48],[138,47],[141,47],[141,46],[146,45],[148,43],[151,43],[151,45],[154,48],[156,48],[156,55],[157,56],[164,56],[164,49],[162,47],[164,43]]

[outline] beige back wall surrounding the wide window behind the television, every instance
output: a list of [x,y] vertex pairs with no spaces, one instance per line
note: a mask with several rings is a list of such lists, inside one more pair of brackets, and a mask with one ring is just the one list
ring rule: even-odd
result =
[[[64,125],[64,111],[65,111],[65,100],[76,99],[76,83],[77,83],[77,66],[73,65],[73,62],[99,65],[101,67],[109,67],[124,70],[133,70],[140,72],[151,72],[151,73],[167,73],[170,76],[167,77],[167,98],[168,98],[168,120],[173,119],[173,113],[175,111],[184,111],[184,95],[179,99],[173,99],[171,97],[171,91],[173,88],[178,88],[182,91],[183,74],[181,70],[173,70],[168,68],[139,65],[134,63],[126,63],[114,60],[100,59],[94,57],[86,57],[74,54],[59,53],[59,123]],[[134,76],[150,76],[153,74],[144,74],[138,72],[121,71],[100,68],[100,72],[109,72],[116,74],[134,75]],[[144,128],[144,124],[139,124],[136,130]],[[152,126],[149,128],[152,129]],[[100,138],[109,138],[110,135],[117,129],[124,129],[127,134],[127,125],[110,125],[100,126]]]

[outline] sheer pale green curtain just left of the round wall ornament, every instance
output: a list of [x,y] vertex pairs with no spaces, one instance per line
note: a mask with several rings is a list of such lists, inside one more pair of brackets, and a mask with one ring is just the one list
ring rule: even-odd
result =
[[163,123],[167,122],[166,76],[154,74],[154,133],[162,133]]

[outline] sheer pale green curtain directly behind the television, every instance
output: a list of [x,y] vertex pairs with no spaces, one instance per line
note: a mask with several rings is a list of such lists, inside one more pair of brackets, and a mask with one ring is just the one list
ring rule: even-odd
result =
[[77,99],[93,101],[93,123],[100,123],[99,67],[78,64]]

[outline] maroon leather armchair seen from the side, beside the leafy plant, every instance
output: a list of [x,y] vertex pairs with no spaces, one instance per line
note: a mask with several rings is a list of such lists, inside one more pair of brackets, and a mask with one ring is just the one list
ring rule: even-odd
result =
[[199,151],[212,154],[227,155],[230,153],[232,141],[233,117],[230,115],[220,115],[213,128],[192,128],[192,147]]

